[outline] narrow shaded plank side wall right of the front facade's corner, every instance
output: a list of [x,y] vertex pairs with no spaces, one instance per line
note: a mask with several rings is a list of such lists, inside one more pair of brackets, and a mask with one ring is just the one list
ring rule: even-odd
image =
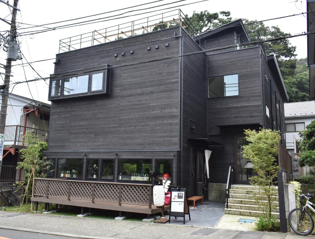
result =
[[[200,51],[198,45],[189,36],[183,37],[183,53]],[[183,58],[183,185],[187,188],[188,196],[194,196],[195,185],[192,170],[195,159],[191,159],[189,138],[208,138],[207,136],[207,84],[206,84],[206,55],[204,53],[185,56]],[[189,119],[196,122],[196,133],[189,132]],[[192,162],[191,162],[192,160]],[[196,170],[194,170],[196,171]],[[197,172],[195,172],[197,174]],[[192,183],[193,184],[193,183]]]

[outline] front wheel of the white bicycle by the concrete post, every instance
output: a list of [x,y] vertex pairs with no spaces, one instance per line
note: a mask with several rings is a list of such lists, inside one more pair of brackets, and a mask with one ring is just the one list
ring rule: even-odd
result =
[[299,235],[306,236],[308,234],[311,234],[314,229],[314,221],[310,215],[304,210],[304,212],[301,211],[301,208],[295,208],[293,209],[288,216],[289,225],[291,229]]

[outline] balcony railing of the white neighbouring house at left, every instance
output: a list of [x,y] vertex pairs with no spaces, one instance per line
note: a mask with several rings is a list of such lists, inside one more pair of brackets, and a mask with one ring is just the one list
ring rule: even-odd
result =
[[23,145],[23,136],[27,131],[31,131],[37,135],[39,141],[47,142],[47,130],[25,127],[21,125],[6,125],[4,133],[4,145]]

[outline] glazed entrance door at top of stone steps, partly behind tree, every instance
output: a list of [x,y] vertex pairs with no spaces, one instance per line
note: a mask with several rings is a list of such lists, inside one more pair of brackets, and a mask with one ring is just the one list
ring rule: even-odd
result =
[[243,145],[247,141],[242,135],[234,136],[234,168],[235,168],[235,183],[249,184],[249,178],[252,176],[251,163],[243,157]]

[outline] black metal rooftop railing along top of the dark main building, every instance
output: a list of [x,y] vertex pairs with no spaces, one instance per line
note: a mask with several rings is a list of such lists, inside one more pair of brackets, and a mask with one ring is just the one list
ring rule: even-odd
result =
[[176,9],[116,26],[61,39],[59,43],[59,53],[108,43],[128,37],[134,37],[174,26],[183,27],[192,38],[195,37],[199,46],[204,48],[203,37],[200,33],[195,31],[195,27],[192,25],[192,22],[188,19],[188,17],[183,14],[180,9]]

